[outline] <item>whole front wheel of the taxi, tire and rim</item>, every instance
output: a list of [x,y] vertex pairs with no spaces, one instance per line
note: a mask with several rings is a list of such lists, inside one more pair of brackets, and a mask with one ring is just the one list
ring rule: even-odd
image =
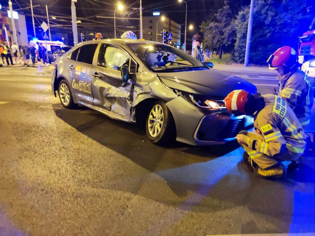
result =
[[174,118],[164,102],[157,101],[151,106],[146,120],[146,133],[150,141],[156,144],[175,141]]

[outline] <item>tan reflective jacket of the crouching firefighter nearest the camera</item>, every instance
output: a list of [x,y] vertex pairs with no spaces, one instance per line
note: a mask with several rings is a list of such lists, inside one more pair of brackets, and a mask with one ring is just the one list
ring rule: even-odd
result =
[[255,151],[251,153],[251,158],[261,154],[273,157],[287,151],[302,155],[306,136],[291,107],[276,95],[265,95],[263,98],[265,107],[254,117],[254,128],[263,140],[248,139],[247,145]]

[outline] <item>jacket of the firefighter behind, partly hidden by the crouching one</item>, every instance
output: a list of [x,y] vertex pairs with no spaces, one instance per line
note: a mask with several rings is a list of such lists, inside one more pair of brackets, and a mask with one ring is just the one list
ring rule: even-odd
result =
[[313,91],[310,78],[301,70],[280,76],[279,96],[293,109],[302,127],[310,124]]

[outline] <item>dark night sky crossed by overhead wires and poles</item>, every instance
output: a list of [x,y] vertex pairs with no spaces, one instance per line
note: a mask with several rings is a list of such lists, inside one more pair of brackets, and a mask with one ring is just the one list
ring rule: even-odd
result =
[[[194,30],[188,31],[188,38],[191,38],[193,34],[199,32],[199,26],[203,20],[207,19],[209,14],[215,14],[217,10],[222,6],[223,0],[186,0],[188,4],[188,25],[193,24]],[[7,0],[0,0],[3,7],[7,6]],[[92,17],[95,15],[99,16],[113,16],[116,3],[118,1],[113,0],[78,0],[76,3],[77,17],[91,17],[87,20],[83,19],[82,24],[78,25],[79,30],[90,29],[94,31],[95,28],[99,29],[100,32],[106,34],[106,32],[113,31],[113,20],[112,19],[100,19]],[[122,0],[121,1],[127,8],[124,10],[124,14],[117,13],[117,16],[124,15],[125,17],[138,17],[138,11],[133,9],[133,7],[139,7],[139,0]],[[233,8],[239,9],[241,5],[248,4],[250,0],[232,0]],[[19,8],[25,8],[30,5],[30,0],[12,0],[14,10]],[[59,28],[65,28],[71,30],[71,0],[32,0],[34,7],[34,14],[37,16],[35,18],[36,27],[39,23],[46,21],[45,4],[48,5],[50,16],[63,16],[64,18],[58,18],[59,20],[52,20],[51,25],[62,24]],[[179,3],[178,0],[142,0],[143,4],[143,14],[152,15],[153,11],[160,11],[161,14],[165,14],[170,19],[174,20],[178,24],[185,23],[185,2]],[[36,6],[40,5],[40,6]],[[30,9],[18,10],[19,13],[25,14],[26,16],[31,16]],[[132,13],[132,14],[131,14]],[[32,27],[32,19],[27,18],[29,25]],[[101,23],[99,23],[101,22]],[[123,32],[128,30],[124,28],[126,26],[138,27],[138,21],[117,21],[119,31]],[[183,27],[184,30],[184,27]]]

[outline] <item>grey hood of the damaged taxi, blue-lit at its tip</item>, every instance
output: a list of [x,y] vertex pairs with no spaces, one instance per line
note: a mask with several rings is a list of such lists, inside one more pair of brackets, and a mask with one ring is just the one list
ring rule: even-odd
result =
[[216,69],[158,73],[170,88],[212,97],[226,97],[231,91],[243,89],[256,93],[256,87],[238,76],[226,76]]

